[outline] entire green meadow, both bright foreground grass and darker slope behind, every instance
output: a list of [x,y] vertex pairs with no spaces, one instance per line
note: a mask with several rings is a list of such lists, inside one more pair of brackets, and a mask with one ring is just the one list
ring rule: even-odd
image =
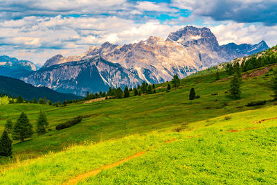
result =
[[[63,184],[137,152],[145,154],[79,183],[274,184],[277,120],[258,123],[277,117],[272,72],[243,78],[238,100],[229,95],[228,77],[222,71],[217,81],[214,74],[184,78],[170,91],[166,82],[156,85],[156,94],[66,107],[0,106],[0,132],[21,112],[35,125],[44,110],[49,121],[46,134],[13,141],[12,158],[0,158],[0,184]],[[191,87],[200,98],[188,99]],[[245,106],[256,100],[267,104]],[[55,130],[76,116],[83,116],[81,123]]]

